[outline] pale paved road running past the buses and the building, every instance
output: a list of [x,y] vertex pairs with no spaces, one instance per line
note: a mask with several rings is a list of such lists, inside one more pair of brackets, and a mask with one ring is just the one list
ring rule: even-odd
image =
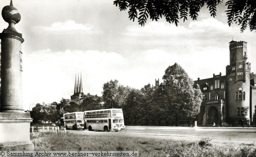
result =
[[[62,129],[61,129],[62,130]],[[70,132],[87,135],[109,135],[126,137],[146,137],[166,140],[199,141],[209,137],[214,143],[227,145],[249,145],[256,141],[256,128],[203,128],[196,130],[192,127],[156,127],[156,126],[126,126],[118,132],[102,132],[88,130],[68,130]]]

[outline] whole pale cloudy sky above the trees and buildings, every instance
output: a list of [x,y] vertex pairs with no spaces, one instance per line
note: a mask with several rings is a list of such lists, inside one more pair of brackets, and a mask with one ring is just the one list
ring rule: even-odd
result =
[[[225,1],[225,0],[224,0]],[[0,8],[10,4],[1,0]],[[248,61],[256,72],[256,32],[240,32],[227,24],[225,2],[217,16],[204,7],[198,20],[178,27],[148,19],[142,27],[120,12],[113,0],[13,0],[21,20],[24,109],[36,103],[59,102],[74,93],[76,75],[82,74],[84,93],[102,95],[111,79],[141,89],[155,84],[168,66],[180,64],[193,80],[226,75],[229,42],[248,42]],[[0,31],[8,24],[0,18]]]

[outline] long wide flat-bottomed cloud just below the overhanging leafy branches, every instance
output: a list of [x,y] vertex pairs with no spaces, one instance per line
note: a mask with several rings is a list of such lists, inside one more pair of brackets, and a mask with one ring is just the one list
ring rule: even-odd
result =
[[127,26],[125,36],[187,36],[204,33],[227,33],[239,30],[238,26],[229,27],[215,18],[206,18],[189,22],[188,25],[169,24],[167,22],[148,22],[144,27]]

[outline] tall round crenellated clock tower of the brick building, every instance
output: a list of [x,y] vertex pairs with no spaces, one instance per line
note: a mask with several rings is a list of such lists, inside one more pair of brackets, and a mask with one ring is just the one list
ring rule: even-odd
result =
[[247,60],[247,43],[229,43],[230,65],[226,66],[228,123],[250,123],[250,63]]

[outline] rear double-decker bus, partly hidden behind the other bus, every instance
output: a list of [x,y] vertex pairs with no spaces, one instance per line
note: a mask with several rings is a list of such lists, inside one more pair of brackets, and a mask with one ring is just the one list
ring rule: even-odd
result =
[[65,113],[63,117],[66,129],[84,129],[84,112]]

